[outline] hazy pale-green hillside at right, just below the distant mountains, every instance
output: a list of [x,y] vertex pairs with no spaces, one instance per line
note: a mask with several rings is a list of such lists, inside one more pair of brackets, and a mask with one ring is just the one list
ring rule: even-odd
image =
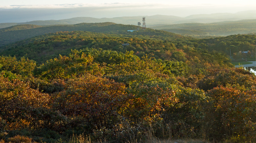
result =
[[150,27],[183,36],[228,36],[256,32],[256,20],[225,21],[211,24],[185,23]]

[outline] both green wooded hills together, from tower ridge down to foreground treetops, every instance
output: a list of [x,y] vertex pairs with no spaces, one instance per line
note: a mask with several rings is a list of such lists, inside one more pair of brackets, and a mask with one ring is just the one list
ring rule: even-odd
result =
[[[171,47],[169,41],[188,39],[191,38],[162,30],[109,22],[52,26],[24,24],[0,29],[0,55],[25,56],[41,63],[59,54],[68,55],[71,49],[92,46],[102,49],[111,46],[120,52],[132,50],[149,54],[157,49],[155,46]],[[130,46],[123,48],[122,43],[130,43]],[[142,50],[140,45],[145,49]]]

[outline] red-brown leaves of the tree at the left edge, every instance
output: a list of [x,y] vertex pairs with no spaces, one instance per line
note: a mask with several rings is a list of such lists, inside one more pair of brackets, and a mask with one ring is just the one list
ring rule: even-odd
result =
[[9,124],[21,119],[30,124],[37,116],[32,116],[32,111],[48,109],[49,99],[48,94],[30,88],[27,83],[18,79],[9,81],[0,75],[0,116]]

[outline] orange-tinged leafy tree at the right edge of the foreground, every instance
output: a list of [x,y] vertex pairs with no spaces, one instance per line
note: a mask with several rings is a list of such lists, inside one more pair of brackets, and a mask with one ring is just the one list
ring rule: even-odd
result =
[[[255,126],[256,97],[255,89],[240,87],[238,85],[216,87],[207,95],[211,97],[207,104],[207,116],[210,122],[220,122],[223,134],[231,133],[249,135]],[[213,118],[214,117],[214,118]],[[249,124],[248,124],[249,123]],[[215,127],[215,128],[216,128]]]

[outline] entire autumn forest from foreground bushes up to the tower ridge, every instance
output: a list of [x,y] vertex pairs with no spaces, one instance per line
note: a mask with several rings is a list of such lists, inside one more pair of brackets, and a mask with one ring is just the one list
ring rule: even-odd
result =
[[256,76],[229,58],[255,58],[255,35],[66,26],[0,47],[1,143],[256,141]]

